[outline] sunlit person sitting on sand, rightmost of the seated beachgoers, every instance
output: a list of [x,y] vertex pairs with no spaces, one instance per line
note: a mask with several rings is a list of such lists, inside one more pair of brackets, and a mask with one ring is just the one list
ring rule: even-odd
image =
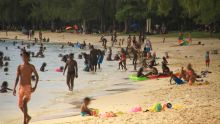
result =
[[196,81],[196,73],[190,63],[187,65],[186,80],[188,81],[189,85],[192,85]]

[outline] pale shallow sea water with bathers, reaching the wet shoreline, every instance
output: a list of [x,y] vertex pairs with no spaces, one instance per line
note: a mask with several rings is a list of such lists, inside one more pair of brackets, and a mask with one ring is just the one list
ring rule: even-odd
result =
[[[29,42],[30,43],[30,42]],[[0,42],[0,51],[5,56],[9,56],[9,71],[5,75],[4,67],[0,68],[0,83],[7,81],[9,87],[14,87],[16,69],[22,63],[20,57],[21,45],[18,42],[13,46],[12,41]],[[48,43],[44,45],[47,49],[44,52],[45,58],[31,58],[31,64],[34,64],[40,77],[37,90],[32,94],[32,98],[28,103],[29,113],[32,121],[43,119],[52,119],[57,117],[66,117],[79,114],[79,106],[82,99],[86,96],[97,98],[112,93],[132,90],[138,85],[128,80],[129,71],[118,70],[118,62],[106,61],[104,58],[101,70],[96,73],[84,72],[84,59],[78,59],[81,52],[89,53],[89,50],[80,50],[71,46],[65,46],[61,49],[61,44]],[[8,50],[5,49],[8,47]],[[31,45],[27,51],[38,52],[40,45]],[[99,46],[95,46],[98,48]],[[114,48],[113,51],[117,52]],[[66,86],[66,77],[63,73],[55,72],[55,69],[64,66],[65,63],[58,57],[59,54],[74,53],[78,63],[79,77],[75,80],[74,91],[69,92]],[[106,56],[105,56],[106,57]],[[40,66],[43,62],[47,63],[47,72],[40,72]],[[132,67],[131,67],[132,68]],[[32,84],[34,85],[34,81]],[[23,115],[18,108],[17,96],[13,96],[12,92],[0,93],[0,121],[1,123],[20,123]]]

